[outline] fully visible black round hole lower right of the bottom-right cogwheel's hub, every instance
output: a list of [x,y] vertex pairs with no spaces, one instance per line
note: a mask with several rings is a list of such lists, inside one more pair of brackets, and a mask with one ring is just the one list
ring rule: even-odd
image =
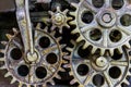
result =
[[109,76],[111,78],[119,78],[119,76],[121,75],[121,70],[117,66],[112,66],[109,69]]

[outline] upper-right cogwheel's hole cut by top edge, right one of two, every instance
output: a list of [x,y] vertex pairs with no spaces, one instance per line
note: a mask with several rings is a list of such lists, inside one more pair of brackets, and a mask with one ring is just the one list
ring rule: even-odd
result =
[[123,7],[124,2],[123,0],[112,0],[111,4],[115,10],[119,10]]

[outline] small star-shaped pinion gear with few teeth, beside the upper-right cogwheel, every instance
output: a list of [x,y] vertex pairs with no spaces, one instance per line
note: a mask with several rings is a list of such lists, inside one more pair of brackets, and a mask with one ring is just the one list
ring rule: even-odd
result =
[[63,26],[67,28],[70,28],[70,25],[68,24],[69,21],[72,20],[72,17],[69,17],[68,14],[69,10],[66,9],[63,12],[60,10],[60,7],[57,7],[57,11],[52,12],[49,11],[49,14],[51,15],[50,22],[52,23],[51,30],[53,30],[56,27],[59,28],[59,32],[62,33]]

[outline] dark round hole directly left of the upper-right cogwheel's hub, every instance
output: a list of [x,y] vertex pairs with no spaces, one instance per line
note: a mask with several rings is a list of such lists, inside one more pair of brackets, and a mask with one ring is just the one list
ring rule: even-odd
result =
[[86,24],[92,23],[93,18],[94,18],[94,15],[90,11],[84,12],[82,15],[82,21]]

